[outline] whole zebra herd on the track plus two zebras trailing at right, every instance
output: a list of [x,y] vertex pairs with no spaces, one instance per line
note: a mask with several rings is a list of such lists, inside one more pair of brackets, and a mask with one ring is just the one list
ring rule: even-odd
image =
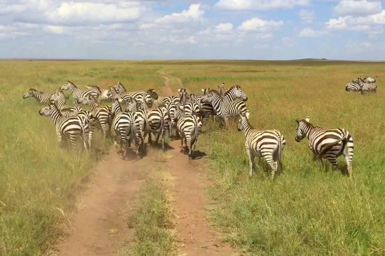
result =
[[[238,118],[237,128],[244,131],[246,137],[249,175],[252,175],[256,156],[263,157],[270,165],[272,178],[278,167],[282,166],[281,154],[286,145],[283,134],[276,129],[258,130],[250,124],[250,112],[245,103],[248,97],[238,84],[229,89],[225,88],[224,83],[218,85],[219,90],[202,88],[203,95],[188,94],[185,88],[179,88],[179,96],[158,96],[151,87],[146,91],[127,92],[121,82],[108,89],[95,85],[86,85],[86,88],[78,88],[67,80],[56,92],[45,93],[31,88],[23,98],[34,97],[42,104],[47,103],[48,106],[41,109],[39,114],[50,116],[59,143],[63,137],[69,138],[73,148],[76,148],[79,138],[83,140],[86,150],[90,148],[93,131],[99,123],[104,138],[113,127],[114,144],[123,159],[131,142],[135,143],[135,154],[140,158],[139,149],[146,151],[144,139],[147,134],[150,144],[151,134],[155,136],[157,145],[161,138],[164,150],[166,135],[171,137],[175,129],[175,135],[180,137],[181,151],[184,150],[184,143],[188,158],[192,159],[198,137],[210,116],[218,118],[226,128],[229,128],[229,119]],[[78,104],[88,105],[90,111],[83,110],[79,105],[67,105],[64,90],[69,90]],[[111,105],[100,105],[102,101]],[[300,142],[307,137],[314,158],[326,158],[334,167],[337,167],[336,158],[344,155],[351,177],[354,144],[350,133],[344,128],[314,126],[309,122],[309,117],[296,119],[296,122],[295,140]]]

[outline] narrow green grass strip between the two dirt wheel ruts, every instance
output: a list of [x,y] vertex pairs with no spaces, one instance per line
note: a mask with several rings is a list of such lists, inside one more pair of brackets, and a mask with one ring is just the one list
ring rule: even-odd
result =
[[141,188],[137,206],[130,209],[127,224],[135,228],[134,239],[118,253],[119,256],[176,256],[178,244],[172,229],[172,205],[165,173],[152,173]]

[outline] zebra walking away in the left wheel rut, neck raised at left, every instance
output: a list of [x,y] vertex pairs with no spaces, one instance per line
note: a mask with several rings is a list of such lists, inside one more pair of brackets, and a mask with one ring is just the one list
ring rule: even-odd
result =
[[[115,116],[113,126],[114,126],[114,144],[117,149],[119,139],[120,151],[123,147],[122,158],[123,160],[127,155],[128,143],[131,143],[132,140],[135,142],[136,147],[136,157],[139,156],[139,141],[136,139],[138,130],[140,129],[139,121],[135,120],[135,113],[132,112],[123,112],[122,108],[117,99],[114,99],[112,103],[111,112]],[[128,138],[128,140],[127,140]]]

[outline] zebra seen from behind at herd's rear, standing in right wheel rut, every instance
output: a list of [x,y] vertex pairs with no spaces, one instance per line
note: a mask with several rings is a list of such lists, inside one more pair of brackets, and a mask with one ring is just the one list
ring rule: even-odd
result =
[[202,132],[202,119],[195,114],[183,114],[176,123],[180,136],[180,151],[183,151],[183,140],[188,148],[188,159],[193,159],[198,136]]

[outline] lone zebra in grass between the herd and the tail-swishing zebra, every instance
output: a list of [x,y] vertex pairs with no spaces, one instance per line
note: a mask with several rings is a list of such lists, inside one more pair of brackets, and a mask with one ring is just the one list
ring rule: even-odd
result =
[[281,164],[281,153],[285,147],[286,140],[282,133],[276,129],[258,130],[251,126],[245,114],[240,114],[238,130],[243,130],[246,137],[246,153],[249,159],[249,177],[253,173],[253,161],[255,156],[265,158],[271,167],[271,178]]

